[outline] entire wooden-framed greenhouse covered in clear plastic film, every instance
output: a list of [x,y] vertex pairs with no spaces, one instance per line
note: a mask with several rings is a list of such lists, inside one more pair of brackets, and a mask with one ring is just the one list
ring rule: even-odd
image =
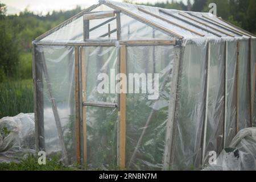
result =
[[255,35],[213,14],[102,0],[32,44],[36,148],[67,165],[201,169],[256,126]]

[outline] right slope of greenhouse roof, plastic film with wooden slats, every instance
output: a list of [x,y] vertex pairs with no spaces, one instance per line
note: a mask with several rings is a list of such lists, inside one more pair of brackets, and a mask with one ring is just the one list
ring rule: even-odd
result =
[[108,0],[100,0],[100,3],[158,27],[176,38],[255,36],[210,13],[162,9]]

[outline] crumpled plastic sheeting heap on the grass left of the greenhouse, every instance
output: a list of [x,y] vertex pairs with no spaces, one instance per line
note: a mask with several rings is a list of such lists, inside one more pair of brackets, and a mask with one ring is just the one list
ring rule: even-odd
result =
[[34,113],[0,119],[0,163],[35,154]]

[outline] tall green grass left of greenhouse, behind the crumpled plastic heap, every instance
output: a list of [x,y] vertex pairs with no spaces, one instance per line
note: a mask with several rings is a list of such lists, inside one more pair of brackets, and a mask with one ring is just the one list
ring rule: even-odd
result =
[[33,112],[32,80],[0,83],[0,118]]

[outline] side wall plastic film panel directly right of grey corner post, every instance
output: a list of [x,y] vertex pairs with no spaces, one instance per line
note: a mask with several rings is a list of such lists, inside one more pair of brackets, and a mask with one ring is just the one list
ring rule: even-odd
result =
[[201,137],[205,114],[205,64],[207,43],[187,42],[181,65],[179,100],[174,129],[172,169],[195,169],[201,161]]

